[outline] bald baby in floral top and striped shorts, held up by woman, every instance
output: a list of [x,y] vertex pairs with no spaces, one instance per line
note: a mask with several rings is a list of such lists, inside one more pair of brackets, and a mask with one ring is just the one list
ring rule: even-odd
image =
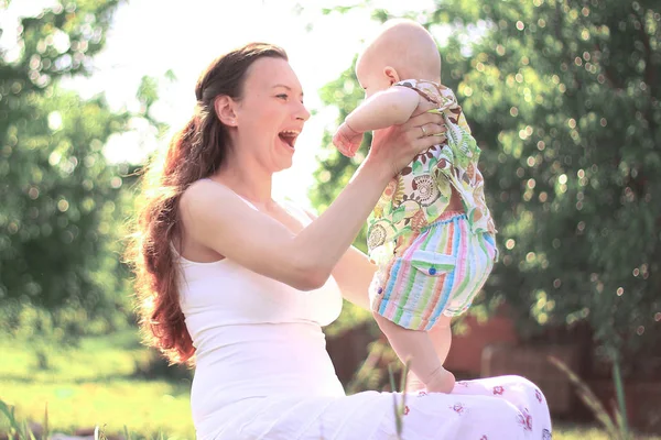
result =
[[[356,76],[366,100],[333,138],[347,156],[367,131],[425,111],[445,120],[438,144],[381,195],[369,218],[368,248],[378,266],[369,296],[381,331],[429,392],[449,393],[455,377],[443,367],[449,320],[470,306],[498,253],[477,168],[480,150],[454,94],[441,85],[438,48],[420,24],[387,22],[359,56]],[[420,135],[427,135],[424,125]]]

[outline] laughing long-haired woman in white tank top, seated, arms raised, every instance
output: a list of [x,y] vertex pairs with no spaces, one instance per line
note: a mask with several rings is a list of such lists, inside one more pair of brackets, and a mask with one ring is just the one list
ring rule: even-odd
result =
[[[133,261],[150,343],[172,362],[195,355],[197,437],[395,438],[393,396],[345,396],[322,327],[343,297],[368,308],[375,267],[350,244],[392,176],[444,131],[441,118],[377,132],[315,218],[271,197],[273,173],[291,166],[310,118],[284,51],[232,51],[195,94],[195,116],[145,179]],[[550,436],[543,396],[519,377],[409,396],[404,413],[405,439]]]

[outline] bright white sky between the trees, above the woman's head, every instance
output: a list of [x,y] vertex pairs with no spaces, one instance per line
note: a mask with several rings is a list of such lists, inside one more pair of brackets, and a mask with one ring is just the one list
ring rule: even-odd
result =
[[[13,0],[0,20],[35,14],[54,2]],[[322,13],[335,6],[358,7],[346,14]],[[139,162],[145,152],[165,147],[172,133],[191,118],[197,76],[210,61],[251,41],[281,45],[303,85],[306,106],[315,113],[296,142],[292,168],[275,176],[273,191],[275,197],[308,205],[307,190],[314,182],[324,128],[333,129],[337,117],[334,109],[322,107],[317,91],[351,65],[362,42],[373,34],[379,25],[370,18],[376,8],[392,14],[423,13],[434,9],[434,1],[130,0],[118,8],[106,47],[94,59],[91,77],[63,85],[83,97],[105,91],[115,109],[137,109],[136,91],[142,76],[160,79],[160,101],[153,116],[170,125],[169,133],[156,139],[138,124],[133,132],[116,135],[106,145],[109,161]],[[11,40],[7,33],[0,44],[11,46]],[[175,80],[165,80],[167,70]]]

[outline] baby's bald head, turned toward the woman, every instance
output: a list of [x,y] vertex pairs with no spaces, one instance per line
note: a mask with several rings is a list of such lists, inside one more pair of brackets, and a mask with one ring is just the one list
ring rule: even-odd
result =
[[432,35],[412,20],[387,21],[358,57],[358,79],[392,67],[399,79],[441,82],[441,56]]

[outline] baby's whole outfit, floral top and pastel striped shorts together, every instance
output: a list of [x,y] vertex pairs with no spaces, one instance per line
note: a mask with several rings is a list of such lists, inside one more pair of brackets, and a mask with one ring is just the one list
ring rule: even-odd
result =
[[[486,206],[480,150],[451,89],[404,80],[434,102],[447,127],[440,143],[393,178],[368,222],[369,256],[378,265],[369,288],[372,311],[411,329],[429,330],[441,315],[464,312],[498,257]],[[447,211],[454,188],[464,212]]]

